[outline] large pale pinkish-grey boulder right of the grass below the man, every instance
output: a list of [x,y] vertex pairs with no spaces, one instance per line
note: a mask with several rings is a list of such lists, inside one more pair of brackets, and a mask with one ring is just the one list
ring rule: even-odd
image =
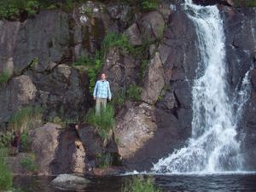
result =
[[125,160],[137,154],[148,140],[154,137],[157,125],[154,122],[154,107],[142,103],[126,103],[114,126],[114,136],[118,139],[119,154]]

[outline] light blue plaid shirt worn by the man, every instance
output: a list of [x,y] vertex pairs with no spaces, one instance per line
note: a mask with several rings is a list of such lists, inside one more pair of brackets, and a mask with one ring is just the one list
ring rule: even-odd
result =
[[97,98],[111,99],[111,91],[110,91],[109,83],[107,80],[105,81],[98,80],[96,82],[96,85],[93,91],[93,96],[96,96]]

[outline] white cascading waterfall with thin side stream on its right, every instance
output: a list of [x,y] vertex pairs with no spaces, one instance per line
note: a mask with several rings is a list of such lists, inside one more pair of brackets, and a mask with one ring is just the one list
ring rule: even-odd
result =
[[[187,0],[184,9],[195,24],[201,58],[192,89],[192,137],[187,147],[159,160],[153,171],[241,170],[243,159],[236,141],[236,119],[247,101],[247,89],[238,93],[235,112],[234,101],[227,94],[224,29],[217,6],[201,7]],[[243,86],[247,86],[246,79]]]

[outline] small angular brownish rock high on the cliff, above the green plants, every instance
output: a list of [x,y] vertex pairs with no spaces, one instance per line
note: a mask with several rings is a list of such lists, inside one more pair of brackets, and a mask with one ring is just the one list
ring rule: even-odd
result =
[[137,23],[132,24],[126,31],[126,36],[129,38],[129,42],[133,45],[143,44],[141,34],[137,28]]

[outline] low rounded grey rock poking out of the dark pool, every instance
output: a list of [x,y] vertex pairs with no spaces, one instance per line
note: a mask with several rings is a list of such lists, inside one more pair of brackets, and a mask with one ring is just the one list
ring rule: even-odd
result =
[[61,174],[58,177],[55,177],[51,183],[58,189],[81,190],[84,189],[90,181],[84,177]]

